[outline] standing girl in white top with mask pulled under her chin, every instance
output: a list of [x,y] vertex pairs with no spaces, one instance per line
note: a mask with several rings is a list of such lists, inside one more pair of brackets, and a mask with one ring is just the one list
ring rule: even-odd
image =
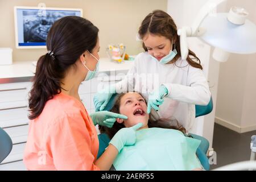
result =
[[191,131],[195,105],[207,105],[210,101],[199,58],[189,50],[187,59],[181,59],[177,27],[164,11],[148,14],[139,28],[139,36],[146,52],[137,55],[125,79],[94,96],[96,110],[104,110],[112,94],[135,90],[148,98],[147,113],[152,111],[156,120],[175,117]]

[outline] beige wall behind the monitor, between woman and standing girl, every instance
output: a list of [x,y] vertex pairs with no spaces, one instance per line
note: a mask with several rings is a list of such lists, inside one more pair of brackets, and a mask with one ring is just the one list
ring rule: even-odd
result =
[[99,29],[100,56],[107,57],[108,44],[123,43],[129,55],[143,51],[136,40],[139,26],[152,10],[166,11],[167,0],[0,0],[0,47],[13,48],[14,61],[35,61],[46,49],[16,49],[14,33],[14,6],[69,7],[83,10],[83,17]]

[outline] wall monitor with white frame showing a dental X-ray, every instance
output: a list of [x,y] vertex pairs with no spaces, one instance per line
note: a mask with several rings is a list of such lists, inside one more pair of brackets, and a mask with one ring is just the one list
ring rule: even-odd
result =
[[82,16],[82,10],[14,7],[16,48],[46,48],[49,29],[64,16]]

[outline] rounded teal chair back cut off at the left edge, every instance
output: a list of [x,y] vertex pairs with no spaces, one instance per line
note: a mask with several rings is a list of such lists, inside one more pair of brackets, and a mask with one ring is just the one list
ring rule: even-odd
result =
[[0,163],[10,154],[13,141],[10,136],[0,127]]

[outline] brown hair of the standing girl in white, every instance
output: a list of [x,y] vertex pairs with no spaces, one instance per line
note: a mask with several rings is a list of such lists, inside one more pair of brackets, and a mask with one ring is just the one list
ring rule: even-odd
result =
[[[177,60],[177,57],[181,56],[180,37],[177,35],[177,26],[172,17],[168,15],[166,12],[162,10],[155,10],[152,13],[148,14],[146,18],[144,18],[144,20],[141,23],[141,27],[139,27],[139,36],[141,37],[141,39],[143,39],[144,36],[148,34],[148,32],[154,35],[164,36],[170,40],[176,40],[175,46],[177,50],[177,55],[175,56],[175,59]],[[144,43],[142,43],[142,46],[144,50],[147,51],[147,48],[144,45]],[[196,60],[199,63],[193,60]],[[203,69],[203,67],[200,64],[200,59],[191,50],[188,50],[187,61],[188,64],[192,67]]]

